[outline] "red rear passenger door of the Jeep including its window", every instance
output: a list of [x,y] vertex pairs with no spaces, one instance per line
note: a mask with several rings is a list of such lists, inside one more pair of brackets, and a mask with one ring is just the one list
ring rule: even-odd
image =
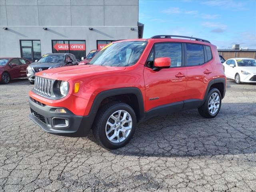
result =
[[[210,46],[208,46],[210,48]],[[212,53],[206,54],[206,47],[202,44],[185,44],[187,68],[187,86],[185,100],[202,100],[212,79]],[[209,58],[209,59],[208,59]]]

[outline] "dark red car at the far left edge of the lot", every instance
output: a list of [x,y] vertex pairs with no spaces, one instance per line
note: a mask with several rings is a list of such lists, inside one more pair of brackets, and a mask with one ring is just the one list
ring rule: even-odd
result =
[[26,68],[30,63],[24,58],[0,58],[0,82],[6,84],[12,79],[26,77]]

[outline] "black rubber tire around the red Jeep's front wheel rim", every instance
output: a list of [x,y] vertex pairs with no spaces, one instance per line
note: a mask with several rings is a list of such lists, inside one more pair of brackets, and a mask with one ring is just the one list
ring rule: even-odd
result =
[[[118,110],[125,110],[130,114],[132,118],[132,129],[130,131],[130,134],[126,137],[124,141],[119,143],[113,143],[108,140],[106,136],[106,123],[108,121],[108,118],[110,118],[110,116]],[[117,149],[125,146],[132,139],[132,136],[134,135],[136,129],[136,122],[136,114],[131,106],[121,102],[111,102],[109,104],[106,104],[105,106],[102,106],[102,108],[100,108],[100,110],[98,111],[97,116],[94,120],[92,132],[98,144],[100,144],[104,148]]]

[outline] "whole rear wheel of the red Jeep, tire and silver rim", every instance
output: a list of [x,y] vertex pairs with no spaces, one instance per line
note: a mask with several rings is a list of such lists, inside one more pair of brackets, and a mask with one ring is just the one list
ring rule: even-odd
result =
[[205,118],[214,118],[220,111],[221,94],[217,88],[209,91],[204,104],[198,108],[198,112]]

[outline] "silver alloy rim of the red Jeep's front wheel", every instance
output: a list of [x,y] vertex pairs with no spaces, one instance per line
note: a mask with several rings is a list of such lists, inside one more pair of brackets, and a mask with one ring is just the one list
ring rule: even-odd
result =
[[106,136],[112,143],[126,140],[132,130],[132,117],[125,110],[114,112],[106,123]]

